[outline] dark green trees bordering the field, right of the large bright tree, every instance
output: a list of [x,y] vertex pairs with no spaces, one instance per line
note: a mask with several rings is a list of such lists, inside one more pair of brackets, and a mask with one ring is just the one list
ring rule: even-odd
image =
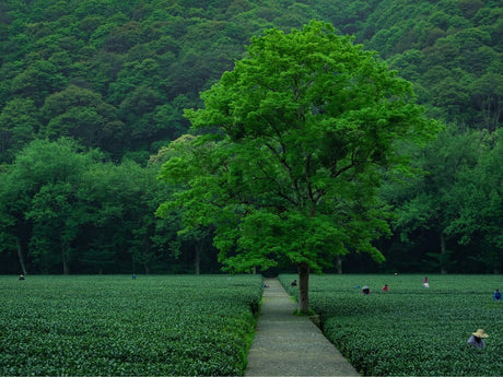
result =
[[[428,270],[502,270],[503,170],[496,168],[501,166],[501,129],[491,134],[449,127],[423,151],[413,153],[422,175],[406,185],[382,187],[385,200],[397,209],[396,235],[407,245],[408,255],[419,251],[424,266],[430,264]],[[388,271],[414,271],[394,266],[393,260]]]

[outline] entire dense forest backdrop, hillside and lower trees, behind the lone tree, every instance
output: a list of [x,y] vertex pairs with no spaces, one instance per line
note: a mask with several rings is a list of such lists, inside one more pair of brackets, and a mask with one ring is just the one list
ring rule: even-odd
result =
[[[184,109],[254,35],[309,20],[375,50],[446,123],[391,177],[386,257],[344,272],[503,269],[501,0],[0,2],[0,273],[218,272],[212,228],[155,215]],[[289,269],[284,266],[284,269]],[[334,269],[336,271],[336,268]]]

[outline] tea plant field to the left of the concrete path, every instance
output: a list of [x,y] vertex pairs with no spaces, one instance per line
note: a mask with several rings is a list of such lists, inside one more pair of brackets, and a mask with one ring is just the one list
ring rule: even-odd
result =
[[243,375],[261,276],[0,276],[0,375]]

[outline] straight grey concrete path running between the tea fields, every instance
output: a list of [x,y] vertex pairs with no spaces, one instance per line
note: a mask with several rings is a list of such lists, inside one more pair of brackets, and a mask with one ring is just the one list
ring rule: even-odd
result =
[[278,279],[266,279],[245,376],[360,376],[307,317]]

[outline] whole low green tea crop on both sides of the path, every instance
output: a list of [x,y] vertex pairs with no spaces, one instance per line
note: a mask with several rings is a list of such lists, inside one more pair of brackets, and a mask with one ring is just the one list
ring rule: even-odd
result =
[[[503,375],[501,275],[313,275],[311,308],[364,375]],[[281,275],[292,295],[294,275]],[[381,292],[384,284],[389,292]],[[363,285],[371,296],[363,296]],[[360,286],[360,287],[356,287]],[[257,275],[0,276],[0,375],[243,375]],[[482,350],[466,344],[478,328]]]

